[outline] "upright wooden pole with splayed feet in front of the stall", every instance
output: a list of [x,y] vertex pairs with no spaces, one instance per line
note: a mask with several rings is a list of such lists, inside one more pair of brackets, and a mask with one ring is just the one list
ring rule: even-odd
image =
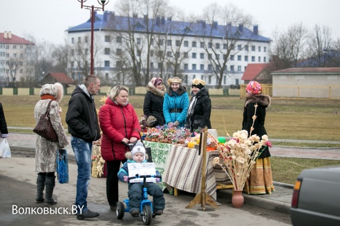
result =
[[207,127],[205,127],[205,132],[201,136],[201,146],[200,152],[202,153],[202,181],[201,181],[201,189],[198,194],[196,194],[195,198],[187,205],[185,208],[192,208],[196,204],[201,204],[203,210],[205,210],[205,204],[207,203],[211,207],[218,209],[216,201],[214,201],[209,194],[205,191],[206,188],[206,171],[207,171]]

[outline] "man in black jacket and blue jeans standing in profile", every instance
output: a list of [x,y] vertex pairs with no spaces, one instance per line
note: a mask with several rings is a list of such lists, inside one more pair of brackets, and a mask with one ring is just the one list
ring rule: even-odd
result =
[[91,180],[92,143],[100,138],[100,127],[95,110],[94,95],[100,90],[97,76],[86,76],[84,85],[78,85],[68,102],[66,123],[71,136],[71,145],[78,166],[77,194],[75,205],[77,219],[99,216],[87,208],[88,185]]

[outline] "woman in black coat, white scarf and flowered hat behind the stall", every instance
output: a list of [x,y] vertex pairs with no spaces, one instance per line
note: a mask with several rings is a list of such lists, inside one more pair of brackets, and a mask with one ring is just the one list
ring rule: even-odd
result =
[[193,79],[191,88],[193,96],[190,100],[185,127],[190,129],[191,132],[193,130],[202,130],[206,126],[211,129],[211,100],[209,92],[205,88],[205,81]]

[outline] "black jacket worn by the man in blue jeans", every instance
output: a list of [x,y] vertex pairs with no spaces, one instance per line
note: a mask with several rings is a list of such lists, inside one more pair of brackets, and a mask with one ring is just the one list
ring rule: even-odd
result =
[[72,92],[66,112],[68,132],[86,142],[100,138],[97,110],[94,96],[90,95],[85,85],[78,85]]

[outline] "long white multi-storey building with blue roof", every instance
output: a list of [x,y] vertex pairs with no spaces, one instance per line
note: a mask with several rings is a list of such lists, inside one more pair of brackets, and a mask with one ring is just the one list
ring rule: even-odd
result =
[[[68,70],[77,81],[81,68],[90,65],[91,20],[66,32],[73,56]],[[223,71],[221,85],[227,88],[243,84],[241,78],[248,63],[270,60],[271,40],[258,34],[258,25],[249,30],[242,24],[149,19],[137,14],[128,18],[104,12],[95,14],[93,33],[95,74],[128,85],[135,84],[133,73],[141,77],[149,73],[149,77],[162,76],[165,80],[176,73],[184,84],[200,78],[216,88],[218,76],[221,78],[216,71]],[[225,59],[227,63],[223,64]]]

